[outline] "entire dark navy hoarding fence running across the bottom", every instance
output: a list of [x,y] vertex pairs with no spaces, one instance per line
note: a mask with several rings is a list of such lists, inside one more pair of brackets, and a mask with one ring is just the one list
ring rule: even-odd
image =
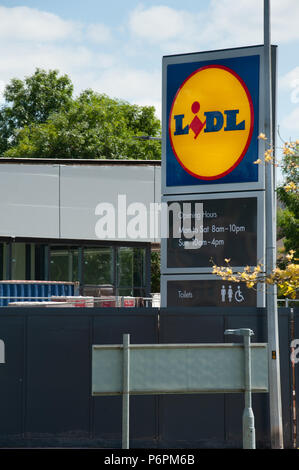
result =
[[[91,347],[132,343],[238,342],[226,328],[249,327],[267,341],[264,309],[1,308],[0,447],[121,446],[121,397],[91,396]],[[299,340],[299,311],[279,309],[285,447],[296,438],[290,343]],[[297,349],[299,360],[299,346]],[[132,396],[133,448],[241,447],[242,394]],[[268,395],[254,394],[258,447],[269,447]],[[298,409],[298,408],[297,408]]]

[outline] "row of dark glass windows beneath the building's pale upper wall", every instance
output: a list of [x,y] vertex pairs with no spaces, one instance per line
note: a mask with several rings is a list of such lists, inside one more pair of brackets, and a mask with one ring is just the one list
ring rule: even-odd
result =
[[145,297],[148,247],[0,243],[0,280],[79,281],[113,286],[116,296]]

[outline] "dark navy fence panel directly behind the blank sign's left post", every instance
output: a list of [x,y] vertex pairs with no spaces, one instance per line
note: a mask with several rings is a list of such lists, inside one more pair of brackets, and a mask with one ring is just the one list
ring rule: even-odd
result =
[[[122,335],[130,334],[130,342],[158,342],[157,309],[102,309],[93,317],[93,344],[121,344]],[[121,447],[121,397],[94,397],[93,436],[101,447]],[[130,445],[155,447],[158,439],[158,397],[130,397]]]

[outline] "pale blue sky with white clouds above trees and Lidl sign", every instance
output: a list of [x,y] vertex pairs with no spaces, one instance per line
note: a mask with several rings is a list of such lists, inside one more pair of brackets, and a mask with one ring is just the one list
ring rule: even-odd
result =
[[[299,0],[271,1],[277,127],[299,138]],[[263,43],[263,0],[0,0],[0,102],[37,67],[161,117],[163,55]],[[278,140],[278,144],[281,141]]]

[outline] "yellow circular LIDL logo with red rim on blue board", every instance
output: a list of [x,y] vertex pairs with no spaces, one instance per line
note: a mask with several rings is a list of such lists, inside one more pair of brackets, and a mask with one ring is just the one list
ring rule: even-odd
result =
[[252,99],[241,77],[228,67],[207,65],[179,88],[169,115],[169,137],[188,173],[213,180],[244,158],[253,123]]

